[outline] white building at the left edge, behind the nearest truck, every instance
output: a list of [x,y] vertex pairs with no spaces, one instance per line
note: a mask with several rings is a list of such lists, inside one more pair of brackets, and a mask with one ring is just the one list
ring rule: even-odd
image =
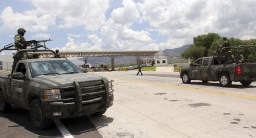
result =
[[11,66],[13,65],[13,55],[0,55],[0,61],[2,62],[0,69],[2,66],[2,70],[11,70]]

